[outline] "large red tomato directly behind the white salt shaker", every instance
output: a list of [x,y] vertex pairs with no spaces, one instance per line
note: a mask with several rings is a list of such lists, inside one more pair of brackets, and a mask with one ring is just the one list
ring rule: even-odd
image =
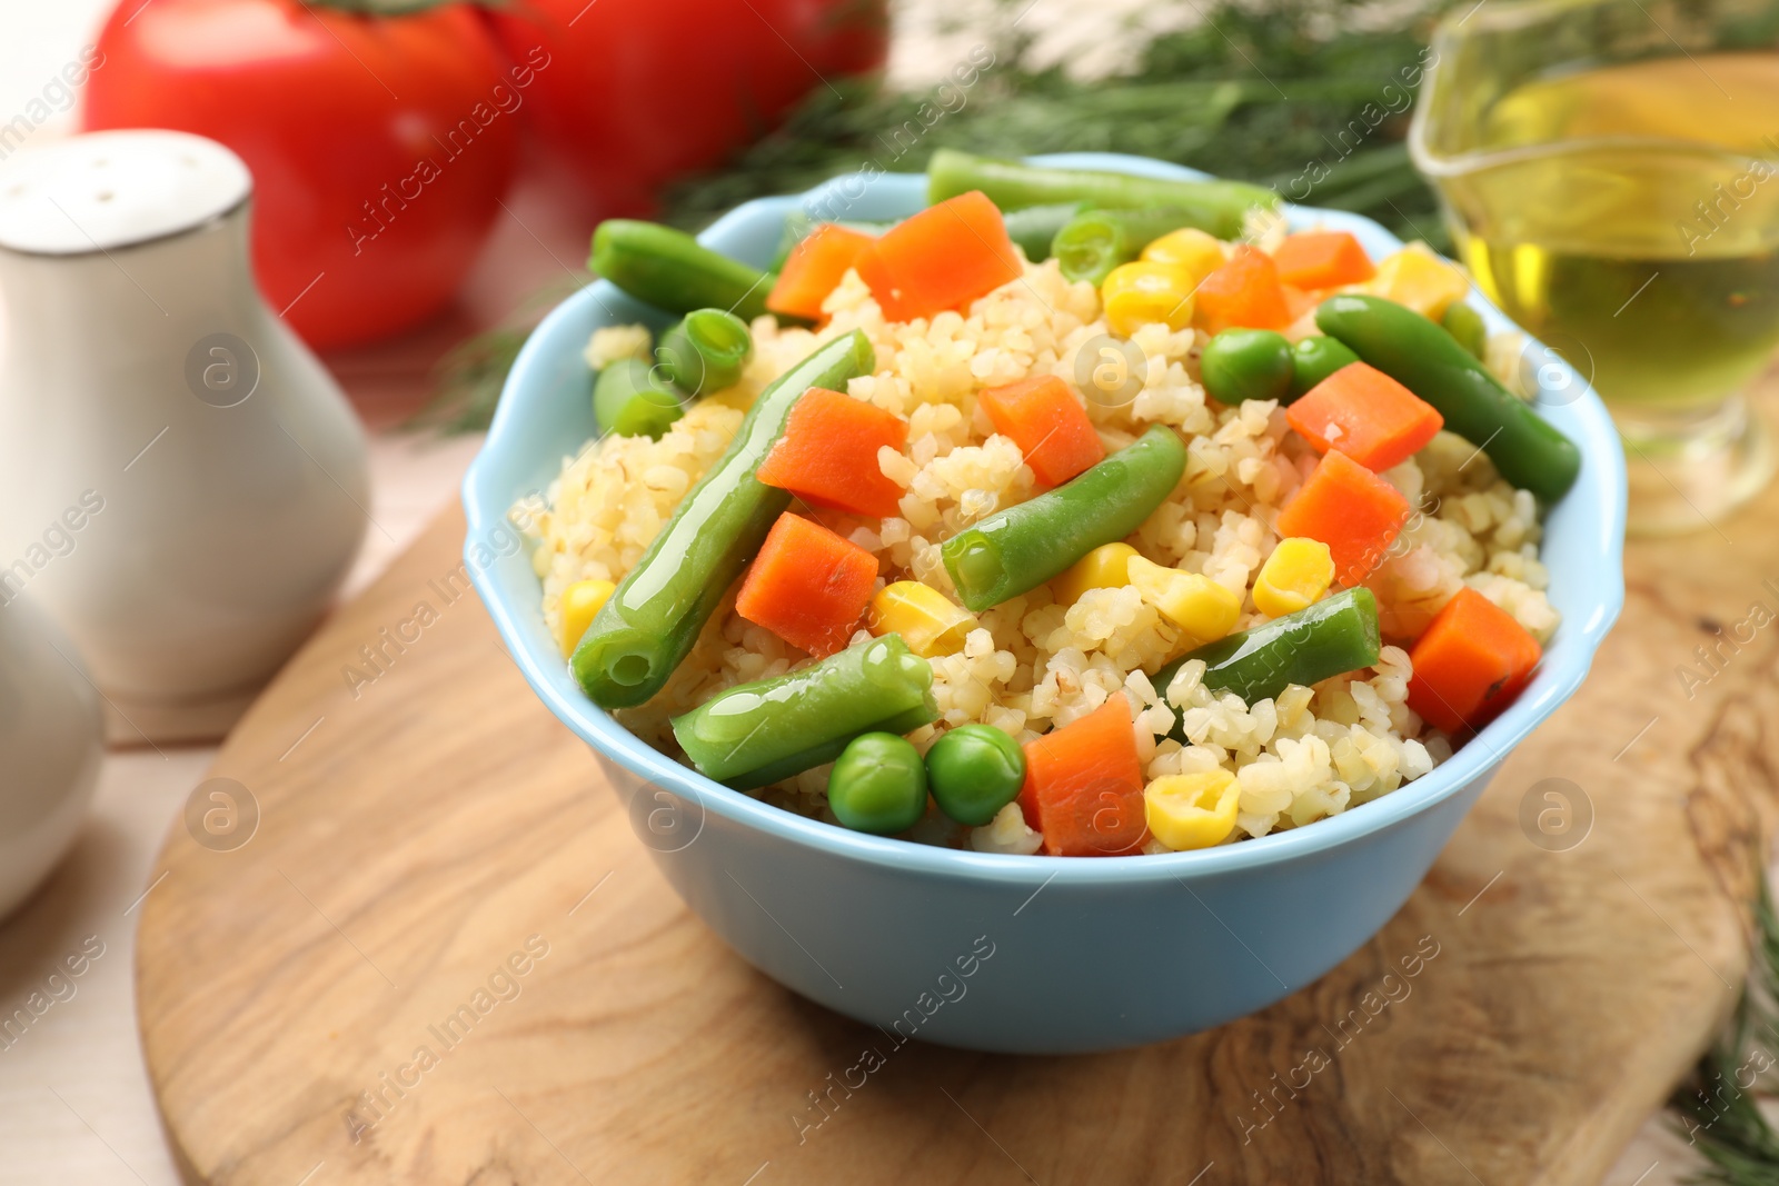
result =
[[254,178],[260,290],[315,347],[382,338],[450,301],[548,60],[509,66],[461,4],[370,18],[297,0],[128,2],[98,50],[84,124],[235,149]]

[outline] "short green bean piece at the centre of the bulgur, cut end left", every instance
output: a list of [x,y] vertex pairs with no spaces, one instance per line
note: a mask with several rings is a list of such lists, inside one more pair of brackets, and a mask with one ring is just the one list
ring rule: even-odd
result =
[[939,546],[962,603],[980,613],[1037,589],[1160,507],[1187,469],[1187,446],[1151,425],[1126,448],[1053,491],[989,516]]

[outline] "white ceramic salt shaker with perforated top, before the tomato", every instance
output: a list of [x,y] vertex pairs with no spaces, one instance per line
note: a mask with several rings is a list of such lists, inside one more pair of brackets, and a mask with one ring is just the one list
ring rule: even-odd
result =
[[180,132],[0,164],[0,603],[68,628],[119,740],[226,731],[366,525],[363,432],[254,286],[251,194]]

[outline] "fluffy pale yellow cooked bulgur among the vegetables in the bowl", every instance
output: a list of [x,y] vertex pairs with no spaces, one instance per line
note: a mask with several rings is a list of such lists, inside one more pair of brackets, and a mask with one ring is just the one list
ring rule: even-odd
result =
[[[770,317],[758,318],[754,356],[738,386],[690,407],[660,441],[610,436],[589,443],[564,461],[544,498],[516,509],[518,521],[535,533],[535,569],[551,629],[568,585],[587,578],[616,581],[630,571],[678,500],[724,452],[754,395],[818,341],[852,329],[870,338],[877,370],[850,381],[849,393],[909,423],[907,448],[879,455],[882,473],[904,487],[900,516],[877,521],[799,510],[873,553],[879,587],[913,578],[952,592],[939,544],[1035,493],[1019,448],[993,434],[977,393],[1039,373],[1075,382],[1078,354],[1110,333],[1094,286],[1064,281],[1055,261],[1026,265],[1023,279],[975,301],[968,313],[906,324],[886,322],[870,290],[849,272],[824,311],[829,320],[820,331],[781,329]],[[637,333],[603,329],[589,352],[603,359],[644,354],[648,343]],[[1140,391],[1123,405],[1087,400],[1087,411],[1107,450],[1130,445],[1151,423],[1183,434],[1185,477],[1130,542],[1149,560],[1201,573],[1242,596],[1236,628],[1244,629],[1263,621],[1251,587],[1277,544],[1276,516],[1316,455],[1288,430],[1276,404],[1224,407],[1206,400],[1197,379],[1204,340],[1192,329],[1142,327],[1131,338],[1146,363]],[[1532,494],[1503,482],[1480,450],[1450,434],[1439,434],[1382,477],[1418,509],[1366,581],[1386,640],[1418,635],[1462,585],[1505,608],[1539,642],[1550,638],[1557,613],[1544,596],[1548,574],[1539,562]],[[1386,645],[1368,670],[1244,704],[1233,693],[1204,688],[1203,663],[1187,663],[1165,688],[1151,685],[1144,672],[1187,645],[1131,585],[1089,590],[1069,606],[1057,605],[1050,587],[1041,585],[977,619],[959,654],[930,660],[941,718],[909,734],[918,747],[966,722],[996,725],[1028,741],[1112,695],[1126,695],[1149,779],[1213,768],[1236,777],[1240,814],[1231,839],[1338,814],[1452,754],[1448,738],[1407,706],[1411,665],[1397,645]],[[861,629],[856,638],[863,637]],[[617,718],[678,756],[669,717],[722,688],[806,660],[737,615],[731,590],[665,690]],[[1176,720],[1188,745],[1167,738]],[[758,795],[833,821],[825,788],[827,766],[820,766]],[[1030,853],[1039,846],[1018,804],[980,829],[929,811],[914,836],[984,852]],[[1151,841],[1151,850],[1160,846]]]

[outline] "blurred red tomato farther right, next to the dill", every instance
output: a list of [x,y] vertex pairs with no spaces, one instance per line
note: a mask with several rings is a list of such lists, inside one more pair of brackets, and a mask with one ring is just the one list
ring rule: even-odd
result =
[[882,66],[886,0],[516,0],[507,53],[548,46],[528,110],[600,215],[720,165],[825,80]]

